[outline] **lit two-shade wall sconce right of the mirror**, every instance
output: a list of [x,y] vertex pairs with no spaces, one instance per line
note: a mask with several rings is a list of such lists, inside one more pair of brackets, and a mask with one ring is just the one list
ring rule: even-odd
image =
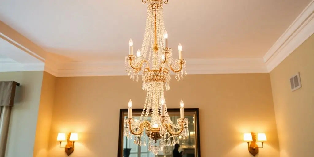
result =
[[[247,146],[249,152],[255,156],[258,153],[259,148],[264,148],[264,142],[267,141],[265,133],[258,133],[257,134],[257,142],[262,142],[262,147],[258,147],[256,144],[256,134],[255,133],[245,133],[244,134],[244,141],[247,142]],[[249,145],[249,143],[251,144]]]

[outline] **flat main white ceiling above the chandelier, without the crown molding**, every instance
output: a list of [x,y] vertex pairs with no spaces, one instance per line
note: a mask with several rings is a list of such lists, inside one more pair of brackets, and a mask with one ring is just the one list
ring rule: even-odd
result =
[[[169,46],[191,59],[262,58],[310,1],[169,0]],[[130,37],[142,44],[146,11],[141,0],[1,0],[0,20],[46,51],[122,61]]]

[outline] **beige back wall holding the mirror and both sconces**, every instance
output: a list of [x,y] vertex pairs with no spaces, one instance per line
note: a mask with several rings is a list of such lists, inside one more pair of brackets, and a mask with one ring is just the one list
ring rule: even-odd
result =
[[[203,157],[251,157],[243,133],[265,132],[268,141],[259,157],[279,157],[278,137],[268,73],[172,76],[165,98],[168,108],[200,109]],[[127,76],[56,79],[49,157],[66,157],[58,132],[78,132],[72,157],[117,155],[119,109],[142,108],[146,93]]]

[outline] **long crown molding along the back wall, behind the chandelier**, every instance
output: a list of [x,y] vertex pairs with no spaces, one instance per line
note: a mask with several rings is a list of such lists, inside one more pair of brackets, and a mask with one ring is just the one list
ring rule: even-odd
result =
[[[47,62],[45,71],[56,77],[121,76],[124,61]],[[262,58],[187,59],[188,74],[267,73]]]

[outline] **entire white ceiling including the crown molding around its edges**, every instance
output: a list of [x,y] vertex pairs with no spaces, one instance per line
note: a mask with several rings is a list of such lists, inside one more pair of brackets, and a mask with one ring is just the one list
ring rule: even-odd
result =
[[[125,75],[146,11],[141,0],[1,0],[0,71]],[[189,74],[267,73],[314,34],[314,0],[169,0],[164,17]]]

